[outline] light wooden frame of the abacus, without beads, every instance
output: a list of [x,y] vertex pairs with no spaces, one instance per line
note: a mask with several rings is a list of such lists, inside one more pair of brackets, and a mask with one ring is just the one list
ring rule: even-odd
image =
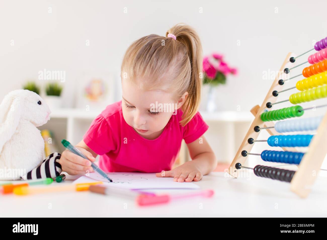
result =
[[[229,167],[229,174],[233,177],[237,178],[239,171],[237,171],[237,168],[235,167],[236,163],[240,163],[242,166],[246,162],[247,157],[242,156],[242,151],[251,152],[251,149],[253,147],[253,144],[250,144],[248,142],[249,138],[257,139],[259,136],[260,131],[256,132],[254,131],[255,126],[259,127],[270,127],[274,126],[273,122],[264,122],[261,120],[260,116],[264,112],[265,109],[267,109],[266,104],[268,102],[275,103],[277,101],[278,97],[274,97],[272,95],[272,92],[274,90],[281,91],[283,89],[283,85],[280,85],[278,83],[279,79],[285,79],[282,77],[285,75],[284,69],[285,68],[291,68],[294,66],[294,63],[291,63],[289,61],[291,56],[296,56],[294,53],[288,53],[283,65],[279,71],[278,74],[276,74],[276,78],[273,81],[267,96],[263,103],[258,106],[254,106],[251,109],[251,113],[255,116],[253,122],[250,125],[250,128],[245,135],[242,144],[240,148],[238,149],[231,166]],[[282,135],[280,133],[277,133],[273,128],[267,129],[267,132],[270,135]],[[318,174],[318,171],[320,170],[320,167],[322,165],[322,162],[326,156],[327,153],[327,147],[325,146],[327,142],[327,113],[323,117],[319,127],[317,128],[317,133],[312,138],[310,145],[308,146],[308,151],[303,155],[303,158],[301,159],[301,162],[298,166],[298,170],[295,172],[292,181],[291,181],[291,191],[296,193],[302,198],[306,198],[310,191],[311,187],[314,184],[314,181],[316,179],[316,176]],[[284,151],[293,151],[294,148],[282,148]],[[274,181],[274,180],[273,180]]]

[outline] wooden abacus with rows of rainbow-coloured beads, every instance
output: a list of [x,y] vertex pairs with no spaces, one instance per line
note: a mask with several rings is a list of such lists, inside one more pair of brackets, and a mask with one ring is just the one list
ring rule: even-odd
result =
[[[314,50],[317,52],[310,55],[308,61],[294,66],[296,58]],[[292,69],[307,62],[311,65],[304,68],[302,74],[287,78]],[[282,90],[286,81],[302,75],[305,78],[298,81],[295,87]],[[297,88],[300,92],[291,94],[288,100],[276,101],[279,93],[293,88]],[[255,118],[232,161],[229,174],[237,178],[238,169],[253,169],[256,176],[289,182],[293,192],[302,198],[307,197],[327,153],[327,113],[324,116],[314,118],[279,121],[301,117],[305,110],[312,109],[312,107],[302,108],[300,105],[295,105],[271,111],[269,109],[275,104],[287,101],[291,104],[300,104],[321,98],[327,98],[327,37],[316,42],[313,49],[299,56],[293,53],[286,56],[264,102],[251,109]],[[316,108],[325,106],[327,104],[316,106]],[[272,121],[277,122],[274,124]],[[267,140],[254,140],[257,139],[261,129],[267,129],[271,136]],[[316,130],[316,134],[283,135],[287,132],[311,130]],[[278,135],[279,133],[281,134]],[[272,147],[282,147],[284,151],[264,150],[262,153],[251,153],[253,143],[262,141],[267,141],[268,145]],[[302,153],[297,152],[293,147],[308,147],[308,150],[306,153]],[[254,168],[245,167],[243,164],[246,162],[247,155],[260,155],[262,160],[268,162],[296,164],[298,170],[291,171],[262,165],[257,165]]]

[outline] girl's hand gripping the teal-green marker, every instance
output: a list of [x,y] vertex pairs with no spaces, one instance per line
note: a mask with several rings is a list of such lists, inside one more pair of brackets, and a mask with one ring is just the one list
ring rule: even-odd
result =
[[[93,157],[91,152],[88,152],[84,148],[76,148],[87,156],[90,161],[95,161],[95,157]],[[67,172],[69,175],[85,174],[87,171],[94,172],[90,161],[70,152],[69,150],[63,151],[59,159],[62,171]]]

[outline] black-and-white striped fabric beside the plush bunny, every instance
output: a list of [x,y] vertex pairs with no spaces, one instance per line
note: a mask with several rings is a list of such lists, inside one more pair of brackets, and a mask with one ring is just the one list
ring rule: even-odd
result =
[[62,169],[59,163],[61,154],[58,152],[51,153],[47,156],[42,164],[27,173],[27,180],[40,178],[56,178],[60,175]]

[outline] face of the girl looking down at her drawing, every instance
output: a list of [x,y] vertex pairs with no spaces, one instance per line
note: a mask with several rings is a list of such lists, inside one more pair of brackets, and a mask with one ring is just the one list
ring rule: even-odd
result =
[[122,92],[125,121],[146,139],[160,136],[174,110],[180,108],[184,102],[174,102],[172,93],[160,90],[145,91],[126,79],[122,80]]

